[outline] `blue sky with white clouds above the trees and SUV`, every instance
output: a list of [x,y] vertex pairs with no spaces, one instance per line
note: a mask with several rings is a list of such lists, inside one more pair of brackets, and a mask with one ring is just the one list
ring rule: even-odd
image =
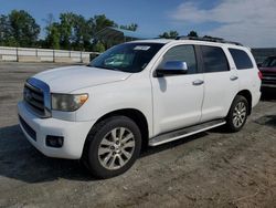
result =
[[276,0],[0,0],[0,14],[23,9],[45,25],[53,13],[106,14],[118,24],[138,23],[145,37],[177,30],[221,37],[252,48],[276,46]]

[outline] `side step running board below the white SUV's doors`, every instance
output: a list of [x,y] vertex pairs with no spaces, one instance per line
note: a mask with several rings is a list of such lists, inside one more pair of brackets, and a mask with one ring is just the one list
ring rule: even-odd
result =
[[206,123],[199,124],[195,126],[190,126],[190,127],[181,128],[178,131],[164,133],[153,138],[150,138],[149,146],[158,146],[164,143],[169,143],[169,142],[177,141],[187,136],[191,136],[193,134],[198,134],[200,132],[205,132],[208,129],[222,126],[224,124],[226,124],[225,119],[215,119],[215,121],[206,122]]

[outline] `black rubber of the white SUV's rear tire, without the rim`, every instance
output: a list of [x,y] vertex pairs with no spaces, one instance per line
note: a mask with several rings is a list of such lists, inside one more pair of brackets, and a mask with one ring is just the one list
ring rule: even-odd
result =
[[[245,119],[243,122],[243,124],[240,126],[240,127],[236,127],[233,123],[233,114],[234,114],[234,111],[235,111],[235,107],[236,105],[240,103],[240,102],[243,102],[245,104],[245,107],[246,107],[246,115],[245,115]],[[231,105],[231,108],[230,108],[230,112],[229,112],[229,115],[227,115],[227,118],[226,118],[226,122],[227,122],[227,127],[231,132],[238,132],[243,128],[243,126],[245,125],[246,121],[247,121],[247,115],[248,115],[248,111],[250,111],[250,107],[248,107],[248,102],[247,100],[242,96],[242,95],[237,95],[232,105]]]

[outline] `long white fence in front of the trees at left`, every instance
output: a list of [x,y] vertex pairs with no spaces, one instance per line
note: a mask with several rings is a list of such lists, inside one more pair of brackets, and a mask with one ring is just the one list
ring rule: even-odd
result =
[[0,46],[0,61],[88,63],[96,52]]

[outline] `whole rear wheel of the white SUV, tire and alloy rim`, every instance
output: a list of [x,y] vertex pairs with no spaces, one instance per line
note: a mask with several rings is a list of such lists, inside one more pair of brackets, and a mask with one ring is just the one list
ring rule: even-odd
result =
[[238,132],[246,123],[248,115],[248,101],[242,96],[236,95],[234,98],[229,115],[226,117],[226,128],[230,132]]

